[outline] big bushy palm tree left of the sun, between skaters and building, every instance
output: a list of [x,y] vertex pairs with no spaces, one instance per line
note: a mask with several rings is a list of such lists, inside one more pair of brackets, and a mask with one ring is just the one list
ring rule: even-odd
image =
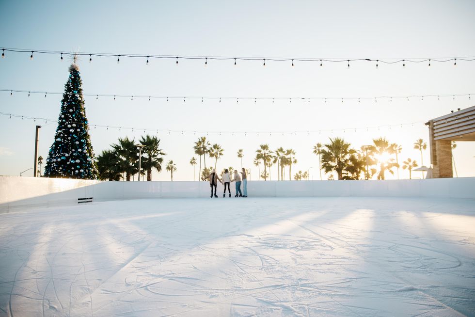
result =
[[322,168],[325,173],[335,171],[338,179],[343,179],[343,172],[348,166],[349,158],[356,153],[351,149],[350,143],[346,143],[342,138],[330,138],[330,143],[324,145],[326,149],[321,150]]

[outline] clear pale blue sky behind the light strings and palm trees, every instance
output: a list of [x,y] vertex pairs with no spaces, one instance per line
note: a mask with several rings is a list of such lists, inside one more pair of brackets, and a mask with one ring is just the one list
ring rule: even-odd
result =
[[[475,2],[463,1],[0,1],[0,47],[82,52],[162,55],[418,58],[474,56]],[[5,52],[0,59],[0,88],[63,92],[70,62],[59,56]],[[374,97],[475,93],[475,62],[407,64],[290,63],[88,58],[79,62],[84,93],[236,97]],[[340,136],[355,148],[386,137],[399,143],[402,159],[420,163],[416,139],[428,142],[423,123],[475,104],[475,95],[353,101],[152,100],[86,97],[91,125],[207,131],[224,148],[218,169],[240,167],[236,152],[251,168],[259,144],[297,152],[292,174],[310,169],[319,179],[317,142]],[[0,111],[55,119],[61,95],[0,92]],[[18,175],[33,166],[34,126],[30,120],[0,116],[0,174]],[[44,124],[39,154],[45,159],[56,124]],[[392,125],[387,127],[371,128]],[[368,130],[366,131],[366,127]],[[350,129],[353,128],[353,129]],[[358,129],[356,132],[354,128]],[[331,131],[333,129],[333,132]],[[343,131],[345,129],[345,131]],[[328,130],[282,135],[277,131]],[[246,131],[246,136],[219,134]],[[257,136],[257,131],[260,131]],[[263,133],[274,131],[274,133]],[[216,133],[213,133],[216,132]],[[143,130],[91,129],[96,154],[118,137],[140,138]],[[150,132],[156,134],[155,132]],[[159,133],[165,161],[177,165],[174,180],[192,179],[192,146],[205,133]],[[454,150],[459,176],[475,176],[475,143]],[[196,156],[195,156],[196,157]],[[210,159],[206,160],[209,165]],[[429,164],[429,151],[424,152]],[[277,179],[277,167],[271,179]],[[288,172],[287,172],[288,173]],[[417,172],[414,173],[418,175]],[[25,173],[32,175],[32,171]],[[288,176],[287,176],[288,177]],[[328,177],[324,176],[324,177]],[[407,171],[400,170],[407,178]],[[393,176],[387,174],[387,178]],[[162,171],[153,180],[169,180]]]

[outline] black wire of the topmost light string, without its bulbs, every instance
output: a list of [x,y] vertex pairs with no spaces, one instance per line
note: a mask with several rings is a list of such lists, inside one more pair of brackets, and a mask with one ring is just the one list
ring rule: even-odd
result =
[[380,63],[394,64],[401,62],[411,62],[411,63],[423,63],[428,62],[450,62],[450,61],[475,61],[475,56],[464,56],[464,57],[441,57],[441,58],[410,58],[410,59],[399,59],[399,58],[289,58],[289,57],[274,57],[274,58],[264,58],[264,57],[229,57],[229,56],[187,56],[187,55],[159,55],[159,54],[119,54],[119,53],[85,53],[85,52],[64,52],[64,51],[52,51],[52,50],[32,50],[24,48],[2,48],[4,51],[10,52],[20,52],[20,53],[39,53],[39,54],[64,54],[69,56],[99,56],[99,57],[132,57],[132,58],[158,58],[158,59],[188,59],[188,60],[240,60],[240,61],[262,61],[263,59],[273,62],[285,62],[285,61],[298,61],[298,62],[355,62],[355,61],[369,61],[375,62],[379,61]]

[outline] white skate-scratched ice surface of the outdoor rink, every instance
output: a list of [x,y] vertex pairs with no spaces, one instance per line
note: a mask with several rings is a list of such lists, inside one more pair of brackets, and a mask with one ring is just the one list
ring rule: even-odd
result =
[[0,316],[474,307],[474,200],[144,199],[0,215]]

